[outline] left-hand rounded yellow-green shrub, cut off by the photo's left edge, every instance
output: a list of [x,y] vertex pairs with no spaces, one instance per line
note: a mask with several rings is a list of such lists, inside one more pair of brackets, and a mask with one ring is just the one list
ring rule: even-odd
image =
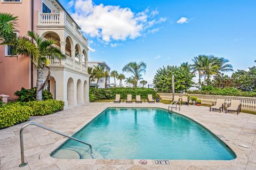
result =
[[0,107],[0,129],[29,120],[33,110],[20,103],[4,104]]

